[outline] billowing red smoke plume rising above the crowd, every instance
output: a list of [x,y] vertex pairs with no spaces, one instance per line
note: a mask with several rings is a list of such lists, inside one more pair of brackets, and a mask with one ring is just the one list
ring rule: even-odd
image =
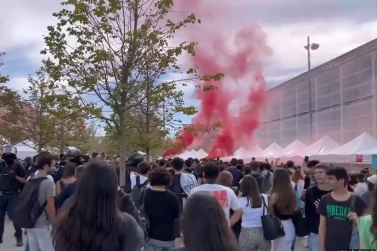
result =
[[[196,91],[200,106],[193,124],[189,129],[182,130],[175,139],[178,147],[167,150],[164,156],[179,154],[193,141],[203,142],[208,134],[194,134],[192,128],[205,128],[216,122],[220,122],[221,127],[217,129],[207,157],[229,156],[242,142],[250,142],[253,132],[261,125],[260,111],[266,101],[263,60],[272,52],[266,45],[266,35],[259,26],[250,24],[241,27],[234,35],[233,45],[228,46],[230,36],[224,37],[221,32],[216,32],[223,29],[216,25],[215,15],[210,13],[210,8],[204,8],[209,1],[213,0],[180,2],[181,13],[192,12],[201,19],[201,24],[187,29],[186,35],[198,42],[195,56],[190,61],[192,65],[199,67],[198,73],[201,76],[223,73],[225,77],[221,81],[202,83],[203,87]],[[221,3],[216,2],[217,4]],[[218,11],[217,9],[216,12]],[[226,15],[218,15],[218,18],[224,16]],[[205,91],[205,87],[215,87],[215,90]],[[246,104],[241,105],[238,115],[232,114],[229,109],[231,103],[241,102],[242,99],[247,100],[244,102]]]

